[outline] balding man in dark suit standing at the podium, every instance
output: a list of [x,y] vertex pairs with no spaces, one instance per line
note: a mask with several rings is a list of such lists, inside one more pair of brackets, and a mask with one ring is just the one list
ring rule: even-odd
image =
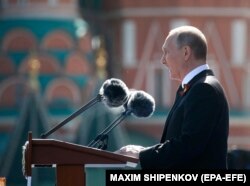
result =
[[206,63],[204,34],[192,26],[175,28],[162,50],[161,62],[180,86],[161,141],[152,147],[127,145],[118,152],[138,157],[143,169],[226,169],[229,108]]

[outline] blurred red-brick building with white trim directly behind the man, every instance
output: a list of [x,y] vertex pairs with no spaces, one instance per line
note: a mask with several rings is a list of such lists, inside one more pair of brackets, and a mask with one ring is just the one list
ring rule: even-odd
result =
[[[119,64],[117,73],[122,74],[129,87],[153,95],[158,108],[152,121],[133,121],[128,127],[159,138],[166,119],[161,116],[167,114],[166,108],[173,103],[177,88],[160,63],[162,44],[171,28],[193,25],[207,37],[208,64],[229,99],[229,147],[250,148],[249,2],[107,0],[103,3],[102,20],[113,41],[113,63],[117,63],[112,65]],[[145,123],[149,123],[148,127]]]

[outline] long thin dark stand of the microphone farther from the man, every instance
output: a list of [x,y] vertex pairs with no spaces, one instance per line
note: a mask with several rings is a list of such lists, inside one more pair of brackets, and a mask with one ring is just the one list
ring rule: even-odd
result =
[[63,125],[65,125],[66,123],[68,123],[69,121],[71,121],[72,119],[74,119],[76,116],[78,116],[79,114],[81,114],[85,110],[89,109],[90,107],[92,107],[97,102],[102,101],[102,99],[103,99],[103,96],[101,94],[98,94],[94,99],[90,100],[86,105],[84,105],[83,107],[81,107],[80,109],[78,109],[76,112],[74,112],[69,117],[67,117],[66,119],[64,119],[62,122],[60,122],[58,125],[56,125],[55,127],[53,127],[51,130],[49,130],[46,133],[41,134],[41,138],[44,139],[44,138],[48,137],[50,134],[52,134],[57,129],[59,129],[60,127],[62,127]]

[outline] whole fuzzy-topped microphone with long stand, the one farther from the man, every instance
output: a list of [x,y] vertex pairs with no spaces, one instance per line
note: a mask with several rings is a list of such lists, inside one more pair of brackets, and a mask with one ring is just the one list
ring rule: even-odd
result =
[[104,104],[107,105],[108,107],[122,106],[123,104],[125,104],[127,102],[128,94],[129,94],[129,90],[128,90],[126,84],[122,80],[116,79],[116,78],[111,78],[111,79],[106,80],[102,84],[102,86],[99,90],[99,93],[95,98],[93,98],[86,105],[84,105],[83,107],[78,109],[76,112],[71,114],[68,118],[63,120],[61,123],[56,125],[54,128],[52,128],[51,130],[49,130],[46,133],[43,133],[41,135],[41,138],[48,137],[50,134],[55,132],[57,129],[59,129],[60,127],[62,127],[63,125],[65,125],[66,123],[68,123],[69,121],[74,119],[76,116],[78,116],[79,114],[81,114],[85,110],[89,109],[90,107],[92,107],[93,105],[95,105],[98,102],[104,102]]

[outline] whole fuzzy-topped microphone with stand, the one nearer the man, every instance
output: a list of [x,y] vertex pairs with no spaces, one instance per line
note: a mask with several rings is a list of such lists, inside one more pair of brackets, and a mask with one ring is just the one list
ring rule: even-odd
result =
[[138,118],[152,116],[155,111],[155,100],[151,95],[142,90],[132,90],[128,101],[123,106],[125,111],[92,140],[88,144],[88,147],[98,145],[98,149],[105,150],[108,143],[108,133],[130,114]]

